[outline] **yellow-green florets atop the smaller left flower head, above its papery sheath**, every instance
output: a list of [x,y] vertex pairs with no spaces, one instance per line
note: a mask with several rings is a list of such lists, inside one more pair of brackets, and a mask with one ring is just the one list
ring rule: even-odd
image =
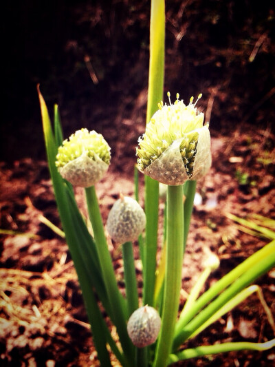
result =
[[110,150],[107,141],[101,134],[94,130],[89,132],[88,129],[83,128],[72,134],[69,140],[64,140],[63,145],[58,147],[56,167],[64,167],[82,154],[92,159],[97,154],[103,162],[109,165],[111,159]]

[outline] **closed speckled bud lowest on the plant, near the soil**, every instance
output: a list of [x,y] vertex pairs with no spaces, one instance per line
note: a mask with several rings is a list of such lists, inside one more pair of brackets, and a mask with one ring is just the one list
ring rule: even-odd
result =
[[162,320],[155,308],[143,306],[132,313],[127,331],[133,344],[137,348],[144,348],[155,342],[161,325]]

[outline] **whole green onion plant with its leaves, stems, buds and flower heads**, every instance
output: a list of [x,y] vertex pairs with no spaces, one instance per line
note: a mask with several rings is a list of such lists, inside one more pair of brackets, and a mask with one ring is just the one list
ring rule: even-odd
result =
[[[201,294],[217,257],[206,261],[197,284],[179,314],[181,271],[196,182],[211,165],[210,133],[203,124],[197,101],[186,105],[162,102],[164,85],[164,0],[151,1],[150,63],[146,129],[138,140],[135,167],[135,200],[120,196],[109,213],[107,229],[122,244],[126,296],[115,279],[112,258],[96,195],[96,182],[107,174],[111,149],[103,136],[83,128],[63,140],[58,107],[54,107],[54,129],[38,87],[47,160],[65,238],[83,293],[94,345],[101,366],[111,366],[110,350],[121,366],[164,367],[175,362],[228,352],[265,350],[275,339],[264,343],[236,342],[185,348],[195,337],[251,293],[259,293],[270,324],[274,319],[258,286],[258,277],[275,265],[275,240]],[[138,204],[140,174],[145,175],[144,211]],[[159,182],[166,187],[162,260],[157,264]],[[89,221],[78,209],[74,186],[83,187]],[[259,228],[257,227],[259,230]],[[266,232],[266,231],[265,231]],[[266,233],[265,233],[266,235]],[[138,297],[133,242],[138,240],[142,260],[142,297]],[[100,300],[100,306],[98,304]],[[102,315],[102,308],[107,318]],[[116,335],[108,327],[115,326]],[[128,326],[128,327],[127,327]],[[275,331],[274,331],[275,332]]]

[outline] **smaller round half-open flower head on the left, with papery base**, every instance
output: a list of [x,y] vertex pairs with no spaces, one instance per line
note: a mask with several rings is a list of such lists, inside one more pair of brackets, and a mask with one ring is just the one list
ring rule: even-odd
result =
[[81,129],[64,140],[58,148],[56,167],[72,185],[90,187],[109,167],[111,148],[101,134]]

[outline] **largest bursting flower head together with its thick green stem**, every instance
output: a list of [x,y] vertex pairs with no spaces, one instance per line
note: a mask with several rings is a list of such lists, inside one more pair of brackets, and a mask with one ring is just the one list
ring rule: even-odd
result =
[[159,109],[146,125],[138,140],[137,168],[145,175],[168,185],[166,266],[162,304],[162,328],[157,340],[153,366],[166,366],[172,348],[181,289],[181,267],[184,255],[183,184],[204,176],[211,166],[210,133],[203,125],[204,115],[190,98],[186,105],[159,103]]

